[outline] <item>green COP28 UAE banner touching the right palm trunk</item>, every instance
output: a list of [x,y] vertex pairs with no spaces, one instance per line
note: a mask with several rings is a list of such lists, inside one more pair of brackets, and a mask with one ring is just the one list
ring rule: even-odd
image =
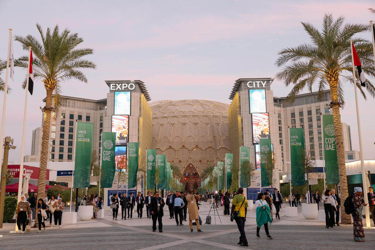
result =
[[326,164],[326,183],[339,183],[339,163],[337,160],[335,128],[333,115],[323,115],[323,147]]

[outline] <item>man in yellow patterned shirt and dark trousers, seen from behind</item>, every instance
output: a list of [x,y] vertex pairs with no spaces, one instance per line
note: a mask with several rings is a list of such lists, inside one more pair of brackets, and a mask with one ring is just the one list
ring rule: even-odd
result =
[[246,214],[248,213],[248,201],[245,195],[243,195],[243,188],[238,189],[238,195],[233,196],[232,209],[231,209],[231,222],[236,220],[238,230],[240,231],[240,241],[239,244],[242,247],[248,247],[248,240],[245,234],[245,222]]

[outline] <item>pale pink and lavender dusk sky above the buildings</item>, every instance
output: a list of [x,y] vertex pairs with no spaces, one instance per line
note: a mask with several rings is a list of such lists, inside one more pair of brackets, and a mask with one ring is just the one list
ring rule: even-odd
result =
[[[42,3],[43,2],[43,3]],[[206,99],[230,103],[229,93],[239,78],[274,77],[282,48],[308,43],[301,21],[320,29],[324,13],[347,22],[368,23],[374,1],[5,1],[0,0],[0,58],[6,60],[9,31],[40,37],[36,23],[60,30],[69,28],[84,38],[82,47],[95,50],[85,57],[97,64],[83,70],[88,83],[62,83],[63,95],[104,99],[105,80],[141,80],[152,101]],[[32,3],[32,4],[31,4]],[[371,33],[359,34],[371,39]],[[39,38],[40,39],[40,38]],[[27,55],[13,41],[14,56]],[[366,72],[365,72],[366,75]],[[5,79],[5,70],[1,75]],[[16,68],[12,93],[7,97],[5,136],[16,150],[9,161],[20,161],[26,71]],[[371,79],[374,82],[374,79]],[[291,87],[275,80],[274,96],[286,96]],[[353,85],[344,87],[346,106],[342,122],[351,126],[353,150],[359,150]],[[303,93],[308,90],[303,91]],[[32,130],[41,126],[45,89],[34,82],[28,101],[25,155],[31,151]],[[375,100],[359,97],[365,159],[374,159]],[[3,93],[0,93],[2,110]],[[1,116],[1,114],[0,114]]]

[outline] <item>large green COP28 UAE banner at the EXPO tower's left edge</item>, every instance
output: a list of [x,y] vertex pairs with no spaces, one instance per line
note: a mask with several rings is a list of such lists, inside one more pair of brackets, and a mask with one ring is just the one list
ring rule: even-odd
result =
[[102,132],[102,169],[100,184],[102,188],[112,187],[115,177],[115,140],[116,133]]

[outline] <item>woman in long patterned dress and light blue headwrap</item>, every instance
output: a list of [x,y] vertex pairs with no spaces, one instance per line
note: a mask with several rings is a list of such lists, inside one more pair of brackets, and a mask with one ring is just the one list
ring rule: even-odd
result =
[[367,204],[362,203],[361,195],[362,195],[362,188],[355,187],[354,195],[352,198],[352,202],[354,205],[354,212],[352,213],[353,230],[354,230],[354,240],[359,241],[359,242],[365,241],[365,234],[363,232],[363,224],[362,224],[362,209],[363,209],[363,206],[367,205]]

